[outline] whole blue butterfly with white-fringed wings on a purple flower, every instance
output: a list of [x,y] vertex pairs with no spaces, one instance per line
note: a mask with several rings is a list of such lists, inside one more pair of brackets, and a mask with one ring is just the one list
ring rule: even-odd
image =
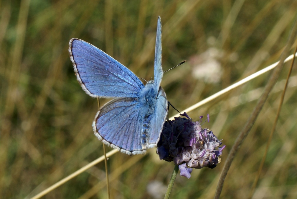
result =
[[144,85],[124,65],[80,39],[69,41],[69,54],[78,82],[91,97],[114,98],[101,107],[93,122],[99,140],[129,155],[156,147],[167,117],[166,94],[160,83],[162,25],[158,18],[154,80]]

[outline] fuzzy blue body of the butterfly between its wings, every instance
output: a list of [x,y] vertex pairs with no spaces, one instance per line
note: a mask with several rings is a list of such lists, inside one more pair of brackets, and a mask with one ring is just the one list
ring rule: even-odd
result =
[[148,82],[145,87],[140,92],[140,103],[144,107],[141,113],[143,118],[142,135],[141,135],[141,145],[143,149],[146,149],[149,145],[149,132],[151,117],[153,117],[155,112],[155,107],[157,104],[158,91],[156,85],[153,82]]

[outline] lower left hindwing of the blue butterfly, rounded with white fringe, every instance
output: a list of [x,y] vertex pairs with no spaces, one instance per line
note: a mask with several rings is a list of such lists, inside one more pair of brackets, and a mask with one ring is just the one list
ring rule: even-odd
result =
[[137,98],[111,100],[97,112],[93,122],[96,137],[122,153],[145,153],[141,145],[142,110]]

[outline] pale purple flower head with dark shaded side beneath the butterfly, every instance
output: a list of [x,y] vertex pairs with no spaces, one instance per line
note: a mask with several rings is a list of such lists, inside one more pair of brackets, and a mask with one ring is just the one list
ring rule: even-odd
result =
[[[180,175],[190,178],[192,168],[214,168],[221,162],[225,145],[209,129],[202,129],[200,120],[193,122],[187,113],[164,123],[157,154],[160,159],[179,165]],[[209,115],[207,120],[209,122]]]

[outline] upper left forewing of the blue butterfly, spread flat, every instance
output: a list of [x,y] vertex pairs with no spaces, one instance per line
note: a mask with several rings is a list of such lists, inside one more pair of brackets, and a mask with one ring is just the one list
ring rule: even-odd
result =
[[92,97],[138,97],[144,87],[131,70],[90,43],[71,39],[69,54],[78,82]]

